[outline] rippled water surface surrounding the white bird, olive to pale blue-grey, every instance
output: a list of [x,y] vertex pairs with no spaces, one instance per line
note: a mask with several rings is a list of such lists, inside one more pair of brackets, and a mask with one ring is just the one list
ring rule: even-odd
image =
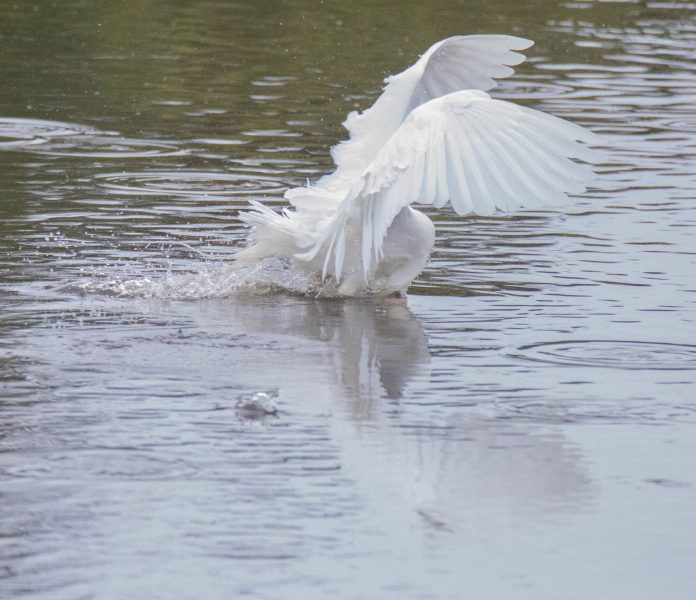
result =
[[[3,599],[696,597],[696,4],[362,4],[3,4]],[[603,135],[596,189],[434,216],[407,301],[182,245],[476,32],[537,41],[498,95]]]

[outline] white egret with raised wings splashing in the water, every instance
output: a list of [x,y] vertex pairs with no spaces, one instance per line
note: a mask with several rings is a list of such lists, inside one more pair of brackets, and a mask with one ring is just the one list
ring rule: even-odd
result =
[[550,115],[494,100],[486,90],[524,60],[533,42],[456,36],[386,79],[372,108],[348,115],[349,139],[332,149],[336,170],[293,188],[293,209],[258,202],[242,264],[278,256],[344,296],[404,292],[425,266],[434,226],[410,207],[461,215],[559,206],[593,178],[596,136]]

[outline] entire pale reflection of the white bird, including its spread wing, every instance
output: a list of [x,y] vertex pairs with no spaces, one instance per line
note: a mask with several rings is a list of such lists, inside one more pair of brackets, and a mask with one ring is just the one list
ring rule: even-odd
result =
[[[251,336],[311,341],[264,365],[264,381],[277,385],[280,418],[308,406],[330,414],[341,468],[375,518],[489,530],[591,499],[582,457],[558,428],[503,419],[466,383],[432,390],[427,338],[405,302],[252,299],[225,314]],[[457,379],[474,386],[475,373]]]

